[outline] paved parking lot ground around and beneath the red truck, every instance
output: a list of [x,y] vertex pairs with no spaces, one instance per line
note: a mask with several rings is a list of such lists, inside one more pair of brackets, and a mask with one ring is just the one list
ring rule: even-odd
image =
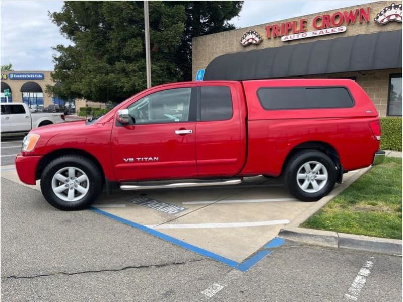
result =
[[[14,145],[2,141],[2,156]],[[281,226],[315,204],[294,200],[280,179],[117,191],[63,212],[4,159],[5,301],[401,300],[400,257],[279,242]]]

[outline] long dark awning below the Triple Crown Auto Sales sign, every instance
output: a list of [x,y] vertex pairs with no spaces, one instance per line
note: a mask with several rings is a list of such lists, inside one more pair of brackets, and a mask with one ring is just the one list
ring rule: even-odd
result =
[[253,80],[401,68],[401,30],[224,54],[204,80]]

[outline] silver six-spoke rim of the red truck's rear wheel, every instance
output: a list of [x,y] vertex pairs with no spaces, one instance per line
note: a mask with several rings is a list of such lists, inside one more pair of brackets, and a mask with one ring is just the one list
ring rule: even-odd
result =
[[319,192],[327,183],[326,167],[316,161],[303,164],[297,173],[298,186],[307,193]]

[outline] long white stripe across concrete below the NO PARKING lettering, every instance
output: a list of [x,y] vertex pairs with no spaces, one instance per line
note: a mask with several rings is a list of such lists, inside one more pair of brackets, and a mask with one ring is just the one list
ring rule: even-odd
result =
[[222,223],[185,223],[146,225],[150,229],[211,229],[211,228],[245,228],[247,226],[264,226],[290,223],[287,219],[254,222],[222,222]]

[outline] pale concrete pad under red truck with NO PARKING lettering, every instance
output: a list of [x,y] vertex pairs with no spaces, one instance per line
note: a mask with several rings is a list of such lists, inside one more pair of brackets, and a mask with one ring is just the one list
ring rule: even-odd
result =
[[[22,184],[13,165],[2,166],[2,177]],[[39,181],[27,187],[40,191]],[[286,192],[280,178],[258,176],[232,186],[115,191],[92,210],[237,267],[313,206]]]

